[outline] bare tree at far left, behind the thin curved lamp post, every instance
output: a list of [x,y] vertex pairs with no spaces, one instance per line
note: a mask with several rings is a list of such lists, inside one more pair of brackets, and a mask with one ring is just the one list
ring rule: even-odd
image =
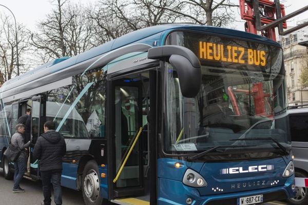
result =
[[17,24],[17,44],[18,54],[16,54],[16,33],[15,25],[12,19],[8,16],[0,15],[0,84],[2,85],[6,80],[11,79],[16,74],[16,57],[19,57],[19,66],[21,73],[26,72],[29,68],[25,64],[23,57],[27,51],[28,45],[26,29],[23,25]]

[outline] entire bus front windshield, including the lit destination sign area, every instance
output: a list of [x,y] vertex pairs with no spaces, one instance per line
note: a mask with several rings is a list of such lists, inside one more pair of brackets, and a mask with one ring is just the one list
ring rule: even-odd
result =
[[271,138],[290,147],[280,48],[179,31],[169,34],[166,44],[189,48],[202,70],[198,95],[185,98],[176,69],[165,64],[166,152],[198,153],[216,146],[224,152],[237,145],[237,152],[281,152]]

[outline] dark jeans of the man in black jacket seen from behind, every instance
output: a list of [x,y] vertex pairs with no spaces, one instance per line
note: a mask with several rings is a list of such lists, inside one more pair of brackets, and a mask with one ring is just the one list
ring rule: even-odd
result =
[[51,204],[51,184],[53,187],[55,204],[62,204],[61,173],[61,170],[41,171],[44,205]]

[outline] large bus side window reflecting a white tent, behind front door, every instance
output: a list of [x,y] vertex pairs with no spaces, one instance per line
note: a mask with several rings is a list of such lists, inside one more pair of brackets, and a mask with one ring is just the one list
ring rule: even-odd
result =
[[105,74],[93,69],[73,77],[73,84],[48,92],[46,120],[64,137],[105,137]]

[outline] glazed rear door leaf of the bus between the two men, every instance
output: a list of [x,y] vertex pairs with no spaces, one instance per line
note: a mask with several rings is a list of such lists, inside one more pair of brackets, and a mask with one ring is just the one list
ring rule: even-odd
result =
[[[32,98],[31,108],[31,143],[35,145],[37,138],[44,133],[44,103],[41,96]],[[33,159],[33,148],[30,149],[30,173],[34,176],[39,176],[38,160]]]

